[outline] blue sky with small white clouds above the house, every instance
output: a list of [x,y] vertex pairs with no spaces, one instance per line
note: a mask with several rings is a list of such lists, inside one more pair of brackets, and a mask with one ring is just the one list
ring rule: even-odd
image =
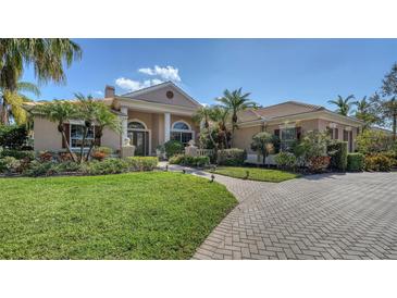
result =
[[[243,87],[263,105],[299,100],[330,107],[326,101],[337,95],[373,94],[397,62],[397,39],[75,41],[83,48],[82,61],[66,70],[66,85],[41,86],[40,99],[74,92],[102,97],[106,84],[123,94],[171,78],[203,103],[213,103],[225,88]],[[24,80],[35,82],[32,71]]]

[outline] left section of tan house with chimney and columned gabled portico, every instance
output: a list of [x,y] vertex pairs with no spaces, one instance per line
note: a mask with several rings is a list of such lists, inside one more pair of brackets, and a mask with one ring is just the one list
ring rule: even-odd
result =
[[[119,151],[128,137],[136,147],[136,156],[151,156],[159,145],[170,139],[187,144],[198,136],[199,127],[193,123],[191,115],[200,103],[171,82],[122,96],[114,94],[114,87],[107,86],[103,101],[120,116],[122,132],[104,129],[102,138],[97,139],[101,146]],[[39,103],[28,103],[26,109],[35,104]],[[72,149],[77,149],[82,141],[82,124],[79,120],[70,120],[65,125]],[[88,138],[96,138],[95,127]],[[34,144],[37,151],[65,149],[57,124],[38,114],[34,114]]]

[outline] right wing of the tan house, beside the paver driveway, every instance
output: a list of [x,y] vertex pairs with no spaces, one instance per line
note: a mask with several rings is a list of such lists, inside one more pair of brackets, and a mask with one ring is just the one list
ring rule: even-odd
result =
[[310,131],[328,132],[332,139],[348,142],[348,150],[355,150],[355,140],[362,122],[328,111],[323,107],[297,101],[250,109],[238,115],[238,128],[234,136],[234,147],[245,148],[248,160],[257,160],[257,153],[250,148],[252,136],[259,132],[269,132],[280,137],[281,149],[287,149],[295,140]]

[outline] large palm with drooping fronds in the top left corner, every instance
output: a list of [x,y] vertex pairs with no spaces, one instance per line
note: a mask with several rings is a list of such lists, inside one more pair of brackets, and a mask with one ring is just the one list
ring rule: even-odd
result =
[[[63,64],[80,57],[79,46],[67,38],[0,38],[0,88],[14,96],[26,66],[33,66],[39,83],[64,83]],[[9,110],[2,109],[1,123],[8,119]]]

